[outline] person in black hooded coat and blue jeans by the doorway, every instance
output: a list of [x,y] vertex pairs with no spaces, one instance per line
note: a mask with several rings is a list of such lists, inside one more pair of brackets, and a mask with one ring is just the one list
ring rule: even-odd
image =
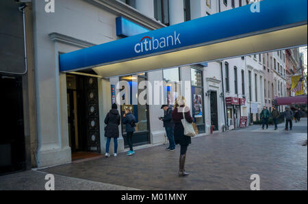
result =
[[107,125],[105,127],[105,137],[107,138],[105,157],[110,157],[109,146],[111,138],[114,138],[114,157],[116,157],[118,152],[118,125],[120,125],[120,114],[118,113],[118,105],[116,103],[112,104],[112,110],[107,113],[104,122]]

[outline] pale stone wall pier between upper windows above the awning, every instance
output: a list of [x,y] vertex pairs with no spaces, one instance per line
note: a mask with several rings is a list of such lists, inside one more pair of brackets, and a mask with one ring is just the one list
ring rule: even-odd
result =
[[183,1],[169,0],[169,21],[170,25],[184,22]]

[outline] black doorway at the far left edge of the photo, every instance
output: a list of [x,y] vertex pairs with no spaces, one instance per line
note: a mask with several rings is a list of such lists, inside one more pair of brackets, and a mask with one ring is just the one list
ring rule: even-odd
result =
[[0,175],[25,170],[21,77],[0,75]]

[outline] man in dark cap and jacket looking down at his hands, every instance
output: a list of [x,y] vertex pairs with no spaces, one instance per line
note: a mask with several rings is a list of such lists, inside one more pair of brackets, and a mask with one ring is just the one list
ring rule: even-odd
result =
[[172,120],[172,107],[168,105],[162,105],[161,109],[164,110],[164,117],[159,117],[159,120],[164,122],[166,135],[169,140],[169,146],[167,150],[175,151],[175,137],[174,137],[174,123]]

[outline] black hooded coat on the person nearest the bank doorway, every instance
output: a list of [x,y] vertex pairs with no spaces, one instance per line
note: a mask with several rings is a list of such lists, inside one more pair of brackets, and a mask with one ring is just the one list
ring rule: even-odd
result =
[[107,138],[118,138],[119,132],[118,132],[118,125],[120,125],[120,114],[118,113],[118,110],[112,109],[109,113],[107,113],[107,116],[105,118],[105,124],[107,125],[105,127],[105,137]]

